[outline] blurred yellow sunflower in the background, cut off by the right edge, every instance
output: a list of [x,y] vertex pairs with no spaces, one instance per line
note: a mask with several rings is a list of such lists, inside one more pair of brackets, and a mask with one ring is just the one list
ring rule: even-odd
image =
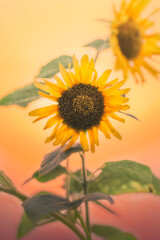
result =
[[136,82],[144,82],[144,72],[141,67],[149,71],[154,77],[159,73],[149,62],[153,55],[160,54],[159,33],[150,33],[154,25],[150,17],[141,18],[140,14],[150,0],[131,0],[128,4],[124,0],[120,11],[114,7],[115,20],[111,24],[110,44],[116,56],[115,69],[122,69],[124,79],[130,71]]

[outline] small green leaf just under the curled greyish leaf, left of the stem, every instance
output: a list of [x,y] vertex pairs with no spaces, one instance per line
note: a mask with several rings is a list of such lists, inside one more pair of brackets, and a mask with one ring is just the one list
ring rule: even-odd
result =
[[54,168],[52,171],[45,173],[43,175],[39,174],[39,170],[37,170],[31,178],[27,179],[24,184],[26,184],[27,182],[29,182],[32,179],[36,179],[39,182],[48,182],[51,181],[59,176],[61,176],[62,174],[67,174],[67,170],[65,167],[62,167],[61,165],[58,165],[56,168]]

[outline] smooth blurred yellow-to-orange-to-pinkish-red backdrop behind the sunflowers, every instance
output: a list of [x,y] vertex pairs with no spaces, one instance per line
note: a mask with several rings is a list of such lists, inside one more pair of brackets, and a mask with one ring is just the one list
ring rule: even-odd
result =
[[[31,83],[41,66],[52,59],[66,54],[76,54],[78,59],[84,53],[94,57],[93,49],[83,48],[86,43],[108,35],[108,26],[97,21],[99,18],[112,19],[113,2],[120,0],[0,0],[0,97]],[[152,0],[145,14],[160,7]],[[155,17],[157,26],[160,15]],[[111,50],[101,53],[97,61],[99,74],[113,68]],[[122,79],[121,72],[113,77]],[[151,167],[160,178],[160,81],[146,74],[147,83],[136,85],[132,77],[126,83],[129,93],[130,112],[141,122],[126,117],[126,123],[114,122],[123,140],[112,138],[108,141],[100,135],[100,146],[95,154],[87,153],[86,165],[95,170],[105,161],[135,160]],[[44,154],[53,150],[52,144],[44,144],[50,130],[43,131],[44,121],[32,124],[28,112],[45,102],[38,100],[26,109],[16,106],[0,107],[0,169],[3,170],[24,194],[46,190],[64,195],[61,189],[63,178],[45,184],[35,180],[21,186],[40,166]],[[48,132],[47,132],[48,131]],[[80,168],[78,155],[70,160],[70,168]],[[108,224],[129,231],[139,240],[160,239],[160,197],[152,194],[125,194],[114,196],[118,217],[104,212],[91,204],[91,221]],[[22,216],[21,203],[14,197],[0,193],[0,239],[15,240],[16,230]],[[36,228],[23,240],[77,239],[61,223]],[[95,239],[100,239],[96,238]]]

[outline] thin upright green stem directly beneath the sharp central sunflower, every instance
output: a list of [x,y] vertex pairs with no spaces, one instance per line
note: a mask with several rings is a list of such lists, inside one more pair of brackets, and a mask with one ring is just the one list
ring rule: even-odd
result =
[[[84,190],[84,194],[87,195],[88,184],[87,184],[87,176],[86,176],[86,169],[85,169],[85,155],[84,155],[84,152],[82,154],[81,153],[79,153],[79,154],[82,159],[83,190]],[[88,202],[85,202],[85,212],[86,212],[86,225],[87,225],[87,229],[88,229],[88,240],[91,240]]]

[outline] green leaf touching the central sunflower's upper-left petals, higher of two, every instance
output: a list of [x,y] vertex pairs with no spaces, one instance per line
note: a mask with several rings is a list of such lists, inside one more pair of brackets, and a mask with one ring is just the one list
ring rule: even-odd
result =
[[61,63],[65,68],[68,68],[68,63],[72,63],[72,57],[61,56],[52,60],[47,65],[41,68],[40,73],[37,77],[52,78],[57,72],[59,72],[59,63]]

